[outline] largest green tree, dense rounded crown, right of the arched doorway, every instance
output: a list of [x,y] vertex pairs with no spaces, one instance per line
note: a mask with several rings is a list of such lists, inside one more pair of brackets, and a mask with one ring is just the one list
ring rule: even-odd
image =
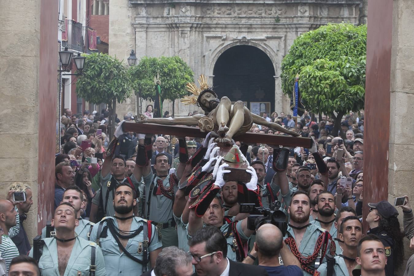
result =
[[[295,39],[282,61],[282,90],[291,96],[295,76],[306,110],[335,119],[365,102],[366,25],[328,24]],[[343,134],[342,134],[343,135]]]

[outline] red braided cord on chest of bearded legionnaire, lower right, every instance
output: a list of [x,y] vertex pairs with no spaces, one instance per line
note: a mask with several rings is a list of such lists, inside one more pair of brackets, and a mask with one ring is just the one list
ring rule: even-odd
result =
[[[313,251],[313,254],[308,257],[303,257],[301,252],[299,252],[298,247],[296,246],[295,239],[288,233],[289,237],[284,240],[286,245],[289,245],[291,252],[295,255],[295,257],[299,260],[301,263],[302,269],[308,272],[309,274],[312,274],[315,272],[315,269],[310,269],[309,266],[312,262],[318,258],[318,254],[320,250],[322,250],[322,256],[321,259],[325,256],[325,252],[327,249],[327,242],[325,241],[325,235],[327,235],[327,232],[322,233],[319,235],[318,240],[316,241],[315,250]],[[325,243],[325,244],[324,244]]]

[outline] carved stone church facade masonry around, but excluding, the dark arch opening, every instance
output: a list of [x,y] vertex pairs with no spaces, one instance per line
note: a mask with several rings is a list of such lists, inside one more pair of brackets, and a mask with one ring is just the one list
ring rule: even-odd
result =
[[[274,65],[275,110],[288,112],[289,99],[282,94],[279,76],[282,59],[294,39],[328,22],[359,24],[362,3],[362,0],[111,1],[109,54],[124,59],[125,63],[134,47],[138,59],[178,55],[188,63],[196,78],[205,74],[214,85],[213,69],[221,53],[236,45],[255,46]],[[146,105],[144,101],[143,106]],[[171,112],[172,103],[165,101],[163,107]],[[187,115],[193,109],[176,101],[176,115]],[[118,114],[135,114],[135,98],[117,110]]]

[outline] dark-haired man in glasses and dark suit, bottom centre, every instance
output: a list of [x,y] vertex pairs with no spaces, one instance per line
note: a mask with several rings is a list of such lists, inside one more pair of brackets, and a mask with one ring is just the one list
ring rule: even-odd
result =
[[227,258],[227,241],[215,226],[203,227],[188,241],[193,257],[193,276],[268,275],[258,266],[233,262]]

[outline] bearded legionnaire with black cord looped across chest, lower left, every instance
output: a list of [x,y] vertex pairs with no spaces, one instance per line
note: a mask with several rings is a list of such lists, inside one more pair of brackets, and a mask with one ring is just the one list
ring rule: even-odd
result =
[[134,216],[135,191],[127,184],[115,189],[115,216],[105,217],[92,229],[91,240],[102,248],[108,275],[140,275],[148,262],[155,266],[161,242],[151,222]]

